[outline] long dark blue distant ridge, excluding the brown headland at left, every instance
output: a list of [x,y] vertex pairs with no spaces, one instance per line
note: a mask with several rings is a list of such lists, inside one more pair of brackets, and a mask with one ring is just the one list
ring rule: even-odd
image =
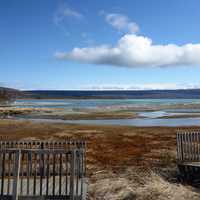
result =
[[200,98],[200,89],[181,89],[181,90],[143,90],[143,91],[72,91],[72,90],[34,90],[23,91],[23,98],[34,99],[66,99],[66,98],[127,98],[127,99],[198,99]]

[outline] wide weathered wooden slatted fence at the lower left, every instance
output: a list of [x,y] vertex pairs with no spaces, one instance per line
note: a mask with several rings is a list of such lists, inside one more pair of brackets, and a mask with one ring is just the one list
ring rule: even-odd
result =
[[0,142],[0,199],[84,200],[85,171],[85,142]]

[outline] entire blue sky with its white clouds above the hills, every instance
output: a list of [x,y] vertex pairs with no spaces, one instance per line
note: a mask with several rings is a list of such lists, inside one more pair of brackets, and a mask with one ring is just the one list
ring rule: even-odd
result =
[[198,0],[2,0],[0,85],[200,87],[199,7]]

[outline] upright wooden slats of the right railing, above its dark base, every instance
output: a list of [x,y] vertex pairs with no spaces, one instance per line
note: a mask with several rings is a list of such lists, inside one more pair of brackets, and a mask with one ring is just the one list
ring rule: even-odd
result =
[[177,132],[178,162],[200,162],[200,132]]

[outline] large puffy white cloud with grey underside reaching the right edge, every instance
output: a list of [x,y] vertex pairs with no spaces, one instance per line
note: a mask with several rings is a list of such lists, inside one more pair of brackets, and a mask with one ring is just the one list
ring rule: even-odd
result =
[[76,47],[70,52],[56,52],[55,57],[130,68],[191,66],[200,64],[200,44],[153,44],[148,37],[126,34],[114,46]]

